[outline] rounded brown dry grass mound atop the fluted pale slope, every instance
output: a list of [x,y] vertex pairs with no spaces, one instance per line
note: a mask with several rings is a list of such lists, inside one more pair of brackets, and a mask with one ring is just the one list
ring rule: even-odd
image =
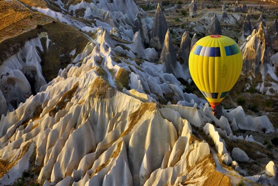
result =
[[115,96],[116,90],[101,77],[97,77],[90,88],[90,97],[97,99],[107,99]]

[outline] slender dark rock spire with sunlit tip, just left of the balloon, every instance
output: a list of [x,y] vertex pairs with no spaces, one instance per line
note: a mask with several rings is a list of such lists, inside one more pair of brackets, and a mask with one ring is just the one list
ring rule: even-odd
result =
[[188,57],[190,53],[191,39],[187,31],[184,32],[182,42],[179,50],[179,57],[182,59],[180,62],[188,68]]

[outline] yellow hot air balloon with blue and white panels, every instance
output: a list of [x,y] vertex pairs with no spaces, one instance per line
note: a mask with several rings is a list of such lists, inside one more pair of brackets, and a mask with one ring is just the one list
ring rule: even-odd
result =
[[225,35],[209,35],[191,49],[191,77],[213,108],[219,105],[236,83],[242,68],[239,46]]

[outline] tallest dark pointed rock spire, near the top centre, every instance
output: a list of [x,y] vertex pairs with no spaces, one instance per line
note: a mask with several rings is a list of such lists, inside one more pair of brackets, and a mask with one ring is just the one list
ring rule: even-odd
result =
[[158,3],[153,22],[152,40],[150,43],[153,48],[157,50],[162,49],[167,30],[168,24]]

